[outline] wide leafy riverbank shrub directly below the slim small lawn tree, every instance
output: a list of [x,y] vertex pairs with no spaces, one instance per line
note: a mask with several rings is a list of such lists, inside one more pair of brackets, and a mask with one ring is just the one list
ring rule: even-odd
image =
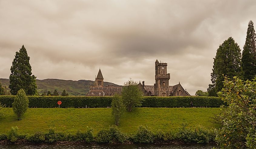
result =
[[127,135],[122,133],[117,126],[112,125],[108,129],[100,130],[96,136],[98,143],[124,143]]

